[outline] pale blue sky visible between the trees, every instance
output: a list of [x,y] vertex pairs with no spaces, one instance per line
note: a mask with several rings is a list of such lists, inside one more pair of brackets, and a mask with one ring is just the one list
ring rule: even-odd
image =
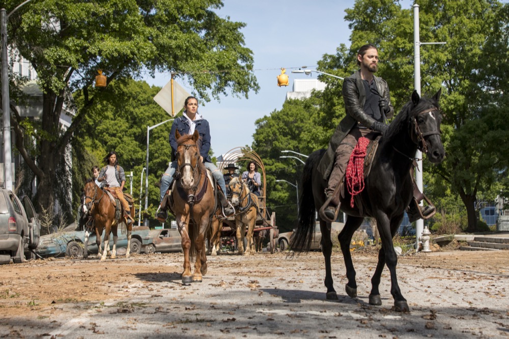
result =
[[[316,73],[306,76],[288,70],[290,86],[279,88],[279,68],[312,68],[323,54],[335,53],[341,43],[350,46],[350,30],[344,17],[345,9],[353,5],[353,0],[224,0],[218,15],[246,23],[241,32],[245,45],[254,54],[254,75],[260,91],[251,92],[249,99],[229,95],[220,101],[200,102],[199,112],[210,123],[215,156],[235,147],[251,146],[254,122],[281,109],[293,80],[316,78]],[[162,73],[145,80],[162,87],[169,79],[169,73]],[[192,92],[190,88],[186,90]]]

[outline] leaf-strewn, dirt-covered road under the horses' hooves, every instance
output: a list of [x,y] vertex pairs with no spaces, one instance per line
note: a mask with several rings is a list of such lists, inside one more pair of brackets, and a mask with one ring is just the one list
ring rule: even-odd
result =
[[[367,303],[376,257],[358,252],[353,258],[359,294],[355,299],[344,291],[342,255],[333,253],[337,301],[325,300],[320,252],[293,259],[285,253],[210,257],[203,282],[191,286],[181,285],[179,253],[119,257],[103,263],[94,258],[7,265],[7,270],[2,267],[7,275],[0,278],[4,291],[0,293],[0,336],[509,336],[509,251],[400,257],[400,288],[411,308],[404,314],[391,309],[387,269],[380,287],[382,306]],[[491,259],[501,264],[483,265]],[[44,293],[51,286],[51,293]],[[32,294],[24,292],[30,288]]]

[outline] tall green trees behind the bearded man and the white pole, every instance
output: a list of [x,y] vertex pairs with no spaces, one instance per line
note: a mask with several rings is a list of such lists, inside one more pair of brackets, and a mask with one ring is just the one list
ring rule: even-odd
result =
[[[500,173],[506,173],[509,161],[504,112],[509,93],[505,80],[509,5],[491,0],[423,0],[419,9],[420,41],[446,42],[420,48],[423,94],[443,88],[442,140],[447,152],[439,166],[425,161],[425,170],[442,176],[451,192],[461,197],[468,229],[476,230],[477,194],[490,190]],[[320,67],[324,71],[349,68],[343,61],[354,60],[359,46],[372,43],[381,57],[379,75],[387,80],[395,107],[401,107],[413,91],[412,10],[389,0],[359,0],[346,12],[352,29],[350,51],[325,55]]]

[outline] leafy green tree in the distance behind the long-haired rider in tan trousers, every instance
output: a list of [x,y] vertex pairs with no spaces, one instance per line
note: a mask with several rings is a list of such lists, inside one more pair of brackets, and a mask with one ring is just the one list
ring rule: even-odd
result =
[[[76,133],[75,170],[82,178],[81,183],[74,185],[75,197],[80,194],[85,178],[92,177],[92,166],[105,165],[103,158],[110,151],[118,153],[119,164],[126,175],[133,172],[133,197],[139,207],[140,184],[145,197],[145,175],[141,183],[143,168],[147,157],[147,127],[169,120],[166,112],[153,100],[160,91],[159,87],[149,86],[145,81],[113,81],[105,89],[112,99],[98,105],[83,121],[83,128]],[[83,96],[76,93],[75,100],[79,105]],[[158,126],[149,135],[149,211],[151,217],[159,205],[159,188],[157,183],[166,170],[171,159],[171,147],[168,135],[172,121]],[[84,146],[84,150],[80,146]],[[93,162],[91,162],[93,161]],[[125,187],[129,192],[130,179],[126,178]],[[144,199],[142,199],[144,202]],[[76,202],[78,203],[78,202]],[[145,207],[144,203],[142,203]],[[155,207],[155,208],[154,208]]]

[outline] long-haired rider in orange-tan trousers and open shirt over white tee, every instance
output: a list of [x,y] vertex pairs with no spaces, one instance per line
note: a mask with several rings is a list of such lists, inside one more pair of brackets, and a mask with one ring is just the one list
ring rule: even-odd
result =
[[101,168],[101,172],[99,173],[99,177],[97,180],[101,182],[101,187],[107,187],[109,190],[115,191],[118,199],[124,206],[124,217],[126,223],[129,225],[133,223],[134,219],[131,216],[131,210],[129,208],[129,203],[124,197],[124,184],[126,182],[126,175],[124,172],[124,168],[119,165],[117,153],[115,151],[111,151],[107,156],[104,157],[104,162],[106,166]]

